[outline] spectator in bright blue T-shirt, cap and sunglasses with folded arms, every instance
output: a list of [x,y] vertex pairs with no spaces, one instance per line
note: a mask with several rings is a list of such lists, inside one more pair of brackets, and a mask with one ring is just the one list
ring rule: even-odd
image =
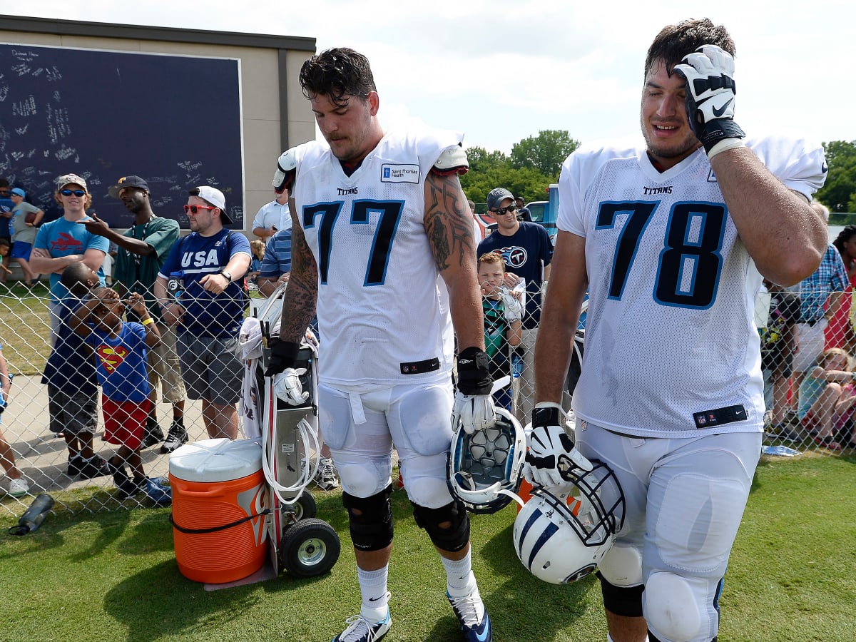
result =
[[76,174],[60,176],[56,179],[54,199],[62,206],[62,217],[39,228],[30,256],[33,272],[51,275],[49,314],[52,341],[56,341],[59,327],[60,302],[68,296],[68,289],[60,281],[62,270],[82,261],[98,273],[98,281],[104,285],[101,265],[110,249],[110,241],[78,225],[78,221],[91,218],[86,214],[86,208],[92,205],[92,195],[86,187],[86,181]]

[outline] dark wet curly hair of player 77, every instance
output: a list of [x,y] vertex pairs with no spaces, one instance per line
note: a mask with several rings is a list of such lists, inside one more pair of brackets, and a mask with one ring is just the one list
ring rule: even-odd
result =
[[300,89],[306,98],[321,94],[336,105],[348,103],[351,96],[366,99],[377,91],[368,58],[347,47],[322,51],[304,62]]

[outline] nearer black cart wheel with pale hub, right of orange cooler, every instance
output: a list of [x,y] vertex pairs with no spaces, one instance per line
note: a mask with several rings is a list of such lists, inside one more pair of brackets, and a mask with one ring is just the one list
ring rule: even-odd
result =
[[294,577],[316,577],[333,568],[342,546],[336,529],[314,517],[300,520],[282,534],[282,568]]

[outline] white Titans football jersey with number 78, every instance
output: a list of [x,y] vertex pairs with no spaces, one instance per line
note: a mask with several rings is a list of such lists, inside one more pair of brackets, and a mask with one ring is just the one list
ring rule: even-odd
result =
[[[819,145],[746,145],[788,188],[811,198],[823,186]],[[762,279],[704,149],[661,174],[644,146],[582,146],[562,165],[559,195],[559,229],[586,238],[577,416],[639,437],[762,430]]]

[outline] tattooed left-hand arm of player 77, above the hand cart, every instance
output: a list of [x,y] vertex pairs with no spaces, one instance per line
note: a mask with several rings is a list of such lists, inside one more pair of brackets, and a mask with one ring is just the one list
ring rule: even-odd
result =
[[291,276],[282,302],[279,336],[282,341],[300,343],[315,316],[318,301],[318,266],[300,225],[291,232]]

